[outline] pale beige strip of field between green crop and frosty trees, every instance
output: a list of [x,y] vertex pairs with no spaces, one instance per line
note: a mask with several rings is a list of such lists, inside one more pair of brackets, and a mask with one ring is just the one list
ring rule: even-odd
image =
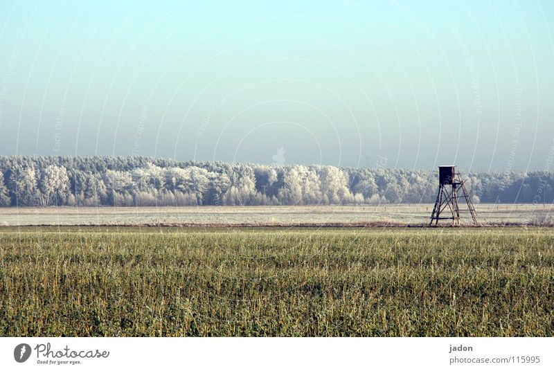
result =
[[[163,208],[1,208],[0,226],[426,226],[433,205],[199,206]],[[553,205],[479,204],[483,225],[550,221]],[[461,214],[463,223],[470,223]]]

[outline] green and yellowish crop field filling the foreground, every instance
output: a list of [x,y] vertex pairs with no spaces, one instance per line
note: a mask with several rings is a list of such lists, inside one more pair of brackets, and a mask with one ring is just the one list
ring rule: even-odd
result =
[[0,336],[554,336],[546,228],[0,228]]

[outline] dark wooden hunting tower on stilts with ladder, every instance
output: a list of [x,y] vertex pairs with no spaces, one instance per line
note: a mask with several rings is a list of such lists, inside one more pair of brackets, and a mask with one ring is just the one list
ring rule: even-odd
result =
[[[467,194],[464,183],[460,173],[456,172],[456,166],[446,165],[438,167],[438,194],[429,226],[433,224],[433,221],[437,225],[439,219],[452,220],[452,225],[460,224],[461,211],[469,211],[473,223],[477,225],[475,208],[473,207],[470,195]],[[467,209],[458,207],[458,199],[465,199]]]

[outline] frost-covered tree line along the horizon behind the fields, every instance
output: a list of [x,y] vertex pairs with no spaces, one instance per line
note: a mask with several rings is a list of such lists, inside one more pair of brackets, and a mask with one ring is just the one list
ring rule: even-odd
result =
[[[551,171],[481,171],[463,177],[475,203],[554,201]],[[437,170],[0,156],[0,206],[432,203],[437,188]]]

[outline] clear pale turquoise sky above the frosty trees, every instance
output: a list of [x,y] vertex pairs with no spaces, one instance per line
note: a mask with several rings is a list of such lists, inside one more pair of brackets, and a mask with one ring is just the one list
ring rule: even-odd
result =
[[3,0],[0,155],[551,170],[553,1]]

